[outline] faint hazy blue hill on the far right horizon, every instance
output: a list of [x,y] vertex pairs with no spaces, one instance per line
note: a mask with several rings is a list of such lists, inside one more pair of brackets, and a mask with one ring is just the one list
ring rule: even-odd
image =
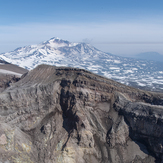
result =
[[163,62],[163,55],[157,52],[140,53],[140,54],[135,55],[134,58]]

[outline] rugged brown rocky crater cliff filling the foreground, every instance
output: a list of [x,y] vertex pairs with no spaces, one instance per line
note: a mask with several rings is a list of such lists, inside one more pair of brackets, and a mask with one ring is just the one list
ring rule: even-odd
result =
[[0,162],[163,162],[163,94],[41,65],[0,94]]

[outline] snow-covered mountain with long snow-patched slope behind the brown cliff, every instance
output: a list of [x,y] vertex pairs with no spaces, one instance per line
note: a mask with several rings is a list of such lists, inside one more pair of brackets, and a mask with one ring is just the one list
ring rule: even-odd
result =
[[38,45],[17,48],[0,54],[3,59],[28,70],[40,64],[78,67],[121,83],[152,91],[163,91],[163,66],[160,62],[119,57],[86,43],[71,43],[52,38]]

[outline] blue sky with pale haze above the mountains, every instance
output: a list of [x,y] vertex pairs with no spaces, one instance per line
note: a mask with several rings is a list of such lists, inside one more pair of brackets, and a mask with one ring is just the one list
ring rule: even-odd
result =
[[51,37],[118,55],[163,54],[162,0],[0,0],[0,53]]

